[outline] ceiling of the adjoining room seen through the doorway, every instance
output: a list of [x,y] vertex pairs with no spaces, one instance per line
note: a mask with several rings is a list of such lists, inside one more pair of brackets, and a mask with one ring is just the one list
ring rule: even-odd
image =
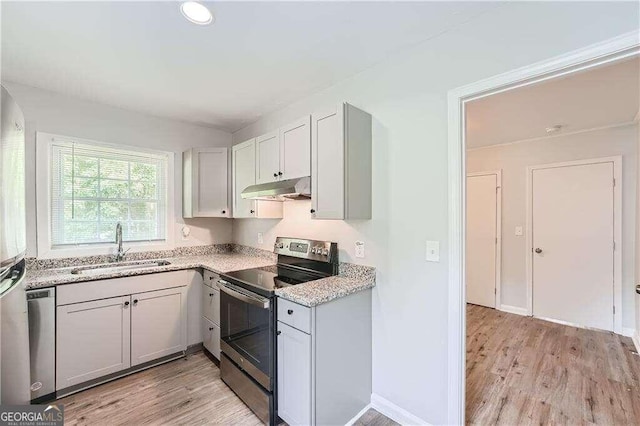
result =
[[467,104],[467,147],[629,123],[640,108],[640,60],[626,60]]

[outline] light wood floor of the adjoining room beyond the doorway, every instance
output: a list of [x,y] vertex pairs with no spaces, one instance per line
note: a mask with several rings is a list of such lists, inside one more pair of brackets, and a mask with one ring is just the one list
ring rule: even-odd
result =
[[470,424],[640,424],[628,337],[467,305]]

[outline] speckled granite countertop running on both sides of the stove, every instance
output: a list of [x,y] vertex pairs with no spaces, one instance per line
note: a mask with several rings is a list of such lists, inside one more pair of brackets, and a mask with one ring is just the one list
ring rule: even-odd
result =
[[[220,250],[227,250],[223,247]],[[268,254],[268,252],[267,252]],[[157,259],[159,259],[158,257]],[[72,274],[78,267],[87,267],[96,262],[92,259],[66,259],[63,262],[52,261],[45,263],[47,267],[27,268],[25,285],[27,289],[52,287],[71,283],[96,281],[109,278],[130,277],[135,275],[153,274],[157,272],[180,271],[185,269],[203,268],[216,273],[226,273],[241,269],[272,266],[276,264],[274,256],[265,255],[260,250],[250,248],[236,248],[234,251],[217,253],[186,254],[175,257],[162,257],[170,263],[148,268],[111,270],[92,272],[88,274]],[[95,259],[94,259],[95,260]],[[136,259],[136,261],[153,260],[150,257]],[[47,261],[44,261],[47,262]],[[70,263],[71,262],[71,263]],[[104,259],[102,262],[104,263]],[[72,266],[70,266],[72,264]],[[55,267],[64,265],[64,267]],[[54,267],[48,267],[54,266]],[[113,264],[113,266],[118,266]],[[280,288],[276,295],[304,306],[312,307],[327,303],[331,300],[348,296],[361,290],[375,286],[375,268],[369,266],[341,263],[339,275],[322,278],[315,281],[298,284],[296,286]]]

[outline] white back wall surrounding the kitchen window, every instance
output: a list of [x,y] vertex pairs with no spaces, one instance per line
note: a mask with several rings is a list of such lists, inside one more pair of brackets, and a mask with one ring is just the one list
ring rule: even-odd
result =
[[[162,119],[57,93],[3,81],[26,121],[27,254],[36,256],[36,132],[93,139],[175,153],[176,246],[231,242],[228,219],[182,219],[182,151],[198,146],[230,146],[231,134],[213,128]],[[182,223],[191,228],[183,241]]]

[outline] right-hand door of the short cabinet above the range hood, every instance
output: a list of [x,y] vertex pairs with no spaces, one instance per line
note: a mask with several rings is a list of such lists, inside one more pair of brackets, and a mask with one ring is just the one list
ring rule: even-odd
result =
[[282,179],[311,176],[311,117],[280,128]]

